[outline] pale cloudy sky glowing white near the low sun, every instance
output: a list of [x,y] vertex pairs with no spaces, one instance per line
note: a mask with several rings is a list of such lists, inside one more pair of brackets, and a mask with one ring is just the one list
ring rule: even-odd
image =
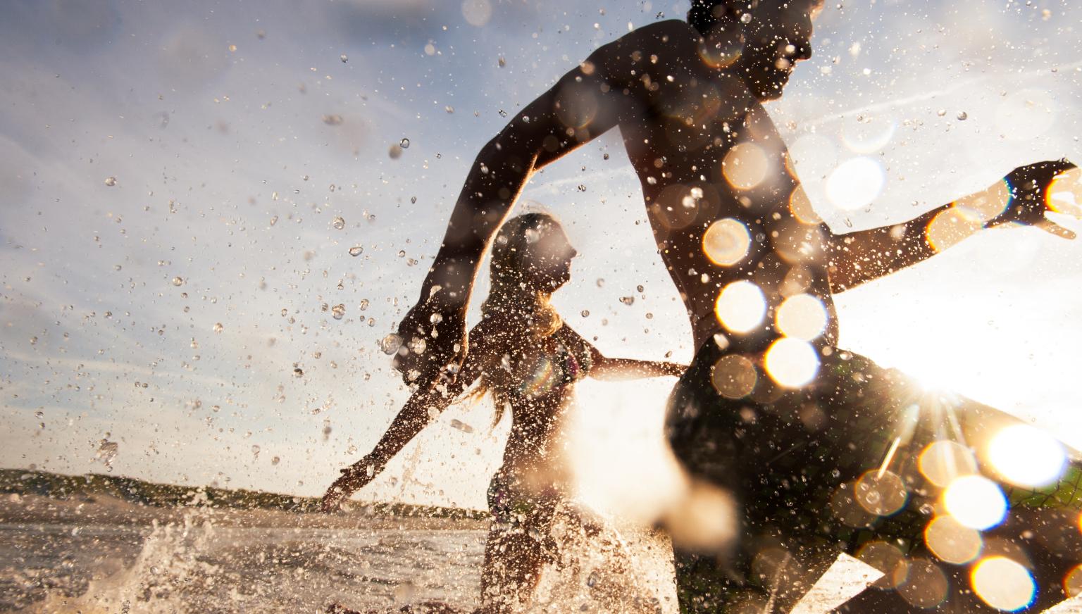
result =
[[[6,3],[0,466],[320,494],[408,397],[379,341],[480,146],[593,49],[686,9]],[[1080,23],[1068,0],[828,3],[767,107],[816,211],[839,232],[895,224],[1082,159]],[[559,216],[581,254],[555,297],[568,323],[609,356],[690,359],[615,131],[519,206]],[[1082,240],[982,232],[837,295],[840,345],[1082,448],[1080,281]],[[592,483],[665,480],[671,385],[579,386]],[[451,408],[358,498],[484,507],[506,435],[491,415]]]

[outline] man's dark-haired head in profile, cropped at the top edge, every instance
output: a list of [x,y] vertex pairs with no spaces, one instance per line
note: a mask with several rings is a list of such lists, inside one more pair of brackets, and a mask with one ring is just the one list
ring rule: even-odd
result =
[[812,57],[812,21],[823,0],[691,0],[687,21],[711,44],[738,37],[733,66],[761,101],[781,96],[793,66]]

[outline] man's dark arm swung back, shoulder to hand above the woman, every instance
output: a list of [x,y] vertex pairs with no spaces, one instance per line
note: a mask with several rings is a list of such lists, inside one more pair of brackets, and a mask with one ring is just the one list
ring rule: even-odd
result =
[[408,382],[430,386],[448,364],[461,363],[474,278],[530,176],[617,124],[626,99],[609,86],[607,75],[618,46],[619,41],[596,50],[517,112],[477,155],[421,296],[398,326],[406,345],[395,366]]

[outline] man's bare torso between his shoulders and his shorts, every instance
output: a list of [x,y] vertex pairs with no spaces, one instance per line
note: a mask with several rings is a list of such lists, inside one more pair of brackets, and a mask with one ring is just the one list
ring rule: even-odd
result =
[[[684,22],[639,28],[588,61],[602,83],[579,86],[604,92],[568,96],[582,107],[619,109],[624,147],[696,347],[720,332],[716,299],[735,281],[762,290],[766,316],[801,293],[833,311],[818,219],[810,208],[802,216],[790,208],[799,182],[762,104],[735,69],[710,61],[711,52],[726,46]],[[754,351],[776,338],[769,320],[753,329],[723,324],[740,333],[734,343]]]

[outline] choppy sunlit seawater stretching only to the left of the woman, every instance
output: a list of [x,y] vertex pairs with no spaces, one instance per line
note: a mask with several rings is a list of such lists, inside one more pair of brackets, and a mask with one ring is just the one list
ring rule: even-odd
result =
[[477,601],[485,532],[0,526],[0,608],[25,612],[321,612],[413,597]]

